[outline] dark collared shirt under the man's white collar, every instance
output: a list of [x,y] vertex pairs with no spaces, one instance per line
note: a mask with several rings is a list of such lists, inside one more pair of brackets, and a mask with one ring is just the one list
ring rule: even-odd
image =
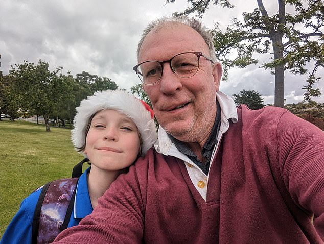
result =
[[206,163],[200,162],[198,160],[198,156],[188,147],[188,145],[186,143],[179,141],[176,138],[174,138],[173,136],[169,135],[170,139],[175,144],[177,149],[181,153],[186,154],[193,161],[193,163],[195,163],[206,175],[208,175],[208,170],[209,170],[210,161],[211,161],[212,154],[213,154],[213,149],[214,149],[215,145],[217,144],[217,135],[218,135],[220,124],[221,124],[220,123],[221,122],[221,117],[220,117],[221,108],[220,108],[219,102],[217,100],[216,100],[216,103],[217,103],[217,112],[216,112],[216,118],[214,121],[214,125],[212,128],[211,134],[209,135],[209,137],[201,151],[201,155],[203,157],[207,158]]

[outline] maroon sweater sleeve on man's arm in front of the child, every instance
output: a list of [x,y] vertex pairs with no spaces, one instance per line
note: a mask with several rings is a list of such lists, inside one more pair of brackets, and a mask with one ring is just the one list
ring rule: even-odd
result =
[[141,160],[132,165],[127,174],[120,175],[111,184],[90,215],[78,226],[61,232],[54,242],[141,243],[145,199],[141,185],[145,185],[145,179],[140,180],[137,172],[145,174],[147,170],[141,168],[141,165],[148,163]]

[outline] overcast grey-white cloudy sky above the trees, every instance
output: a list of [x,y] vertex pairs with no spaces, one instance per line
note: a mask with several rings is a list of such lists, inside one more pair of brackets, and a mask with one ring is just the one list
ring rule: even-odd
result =
[[[51,70],[63,66],[63,72],[72,75],[89,72],[111,78],[120,88],[130,87],[140,80],[132,70],[137,63],[137,42],[147,24],[160,16],[181,12],[187,0],[166,4],[165,0],[2,0],[0,6],[0,54],[3,75],[10,65],[24,60],[48,62]],[[242,12],[257,7],[256,0],[232,0],[231,10],[213,7],[202,18],[204,25],[213,28],[215,22],[222,27]],[[264,0],[269,14],[275,14],[277,1]],[[318,73],[324,79],[324,70]],[[285,73],[287,103],[303,100],[307,76]],[[316,88],[324,93],[324,82]],[[240,90],[256,90],[265,104],[273,103],[274,76],[258,65],[245,69],[231,69],[229,80],[220,89],[228,95]],[[317,102],[324,103],[324,94]]]

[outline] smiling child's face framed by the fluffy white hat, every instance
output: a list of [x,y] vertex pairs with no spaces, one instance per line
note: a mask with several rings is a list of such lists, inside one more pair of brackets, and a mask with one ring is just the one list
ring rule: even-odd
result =
[[108,109],[92,118],[84,151],[92,166],[109,171],[120,170],[131,165],[139,151],[138,130],[129,117]]

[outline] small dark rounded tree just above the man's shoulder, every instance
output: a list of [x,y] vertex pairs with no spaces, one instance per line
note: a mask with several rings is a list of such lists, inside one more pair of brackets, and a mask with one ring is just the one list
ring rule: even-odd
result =
[[264,107],[261,94],[254,90],[242,90],[239,94],[233,94],[236,105],[245,104],[250,109],[260,109]]

